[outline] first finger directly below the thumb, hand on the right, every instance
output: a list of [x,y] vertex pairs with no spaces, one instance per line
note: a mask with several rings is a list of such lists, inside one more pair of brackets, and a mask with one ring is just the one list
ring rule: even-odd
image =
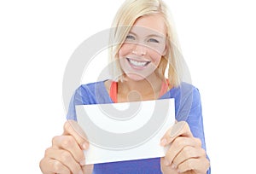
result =
[[179,154],[184,147],[191,146],[191,147],[201,147],[201,143],[198,142],[197,138],[194,137],[184,137],[179,136],[173,142],[171,147],[166,152],[166,165],[171,165],[173,159]]

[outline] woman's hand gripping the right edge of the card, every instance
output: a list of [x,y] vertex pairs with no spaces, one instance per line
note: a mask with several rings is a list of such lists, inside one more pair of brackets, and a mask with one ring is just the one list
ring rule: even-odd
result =
[[166,156],[161,158],[163,173],[207,173],[210,166],[201,140],[195,138],[185,121],[177,122],[161,139],[160,144],[171,144]]

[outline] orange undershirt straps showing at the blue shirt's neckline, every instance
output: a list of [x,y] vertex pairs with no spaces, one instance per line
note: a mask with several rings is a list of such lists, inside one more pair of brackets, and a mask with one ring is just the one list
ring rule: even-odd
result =
[[[167,83],[166,83],[166,82],[167,82]],[[168,82],[168,80],[166,80],[166,82],[165,82],[165,81],[162,82],[162,86],[161,86],[161,90],[160,90],[160,95],[159,95],[159,97],[160,97],[160,96],[163,96],[163,95],[166,93],[166,91],[168,90],[168,84],[169,84],[169,82]],[[113,101],[114,103],[117,103],[117,102],[118,102],[118,101],[117,101],[117,93],[118,93],[118,83],[112,81],[112,83],[111,83],[111,85],[110,85],[109,96],[110,96],[110,98],[112,99],[112,101]]]

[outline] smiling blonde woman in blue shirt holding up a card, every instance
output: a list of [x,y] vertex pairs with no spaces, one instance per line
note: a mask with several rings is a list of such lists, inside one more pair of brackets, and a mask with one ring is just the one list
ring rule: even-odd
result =
[[[113,79],[76,90],[64,132],[53,138],[40,162],[43,173],[210,173],[200,95],[181,81],[181,58],[166,5],[160,0],[126,0],[113,20],[113,30],[115,44],[109,49]],[[162,146],[171,144],[165,157],[85,165],[83,150],[90,144],[75,121],[76,105],[166,98],[175,98],[177,123],[160,140]]]

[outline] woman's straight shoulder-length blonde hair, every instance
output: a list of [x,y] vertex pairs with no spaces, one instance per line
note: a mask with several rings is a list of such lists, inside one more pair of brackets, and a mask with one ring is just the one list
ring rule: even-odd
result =
[[169,87],[177,87],[181,83],[181,61],[180,48],[177,43],[177,34],[174,31],[173,21],[169,14],[166,4],[161,0],[126,0],[119,8],[113,19],[112,31],[110,33],[109,58],[111,73],[115,81],[122,81],[123,74],[119,65],[119,49],[125,42],[125,38],[131,30],[135,21],[143,15],[161,14],[165,20],[166,36],[166,55],[162,55],[158,73],[165,78],[166,68],[168,67]]

